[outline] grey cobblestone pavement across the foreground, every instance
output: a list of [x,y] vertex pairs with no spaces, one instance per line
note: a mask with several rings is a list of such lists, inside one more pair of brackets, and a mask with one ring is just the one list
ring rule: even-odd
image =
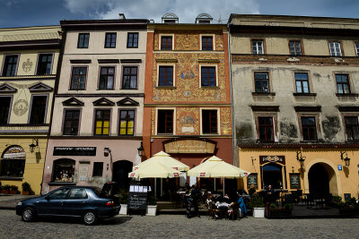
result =
[[359,218],[213,220],[206,216],[120,215],[98,226],[74,219],[22,222],[13,210],[0,210],[0,238],[359,238]]

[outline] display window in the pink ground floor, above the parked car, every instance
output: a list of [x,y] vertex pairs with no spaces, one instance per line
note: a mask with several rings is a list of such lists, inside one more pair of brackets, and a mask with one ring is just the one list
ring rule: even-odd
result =
[[54,161],[53,182],[74,182],[74,159],[60,158]]

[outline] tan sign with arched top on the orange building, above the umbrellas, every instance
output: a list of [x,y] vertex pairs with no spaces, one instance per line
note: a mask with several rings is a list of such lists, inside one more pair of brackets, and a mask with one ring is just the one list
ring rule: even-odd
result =
[[215,141],[206,139],[177,139],[163,142],[166,153],[215,153]]

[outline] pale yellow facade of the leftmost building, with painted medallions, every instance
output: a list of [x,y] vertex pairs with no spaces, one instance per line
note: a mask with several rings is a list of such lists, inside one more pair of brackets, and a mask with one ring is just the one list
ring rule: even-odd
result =
[[39,194],[48,143],[59,26],[0,30],[0,180]]

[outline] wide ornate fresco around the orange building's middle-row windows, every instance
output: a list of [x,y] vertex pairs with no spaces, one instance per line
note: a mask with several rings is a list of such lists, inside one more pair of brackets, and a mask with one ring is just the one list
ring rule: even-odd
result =
[[[159,59],[177,59],[175,64],[175,89],[156,88]],[[219,60],[217,63],[218,88],[203,89],[199,86],[198,59]],[[206,63],[201,63],[205,65]],[[210,64],[210,63],[208,63]],[[214,65],[214,64],[210,64]],[[153,101],[155,102],[226,102],[226,79],[223,53],[155,53],[153,57]]]

